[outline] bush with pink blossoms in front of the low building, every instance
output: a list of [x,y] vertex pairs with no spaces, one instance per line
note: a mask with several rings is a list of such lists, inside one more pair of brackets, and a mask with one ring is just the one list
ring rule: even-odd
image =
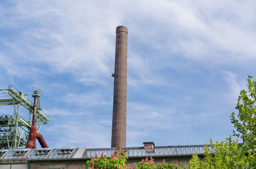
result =
[[156,165],[154,158],[148,160],[148,158],[140,161],[138,165],[134,164],[134,167],[127,165],[127,149],[123,150],[118,147],[117,151],[111,153],[110,158],[106,158],[106,155],[102,152],[100,157],[95,154],[90,160],[86,161],[86,164],[90,169],[180,169],[177,165],[177,160],[173,163],[166,164],[163,160],[159,165]]

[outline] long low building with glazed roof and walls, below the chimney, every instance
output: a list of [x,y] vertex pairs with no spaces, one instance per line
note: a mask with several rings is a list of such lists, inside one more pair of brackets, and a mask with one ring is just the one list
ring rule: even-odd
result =
[[[204,145],[177,145],[154,146],[153,142],[144,142],[144,147],[125,147],[128,154],[128,163],[134,165],[146,157],[154,158],[156,163],[165,159],[166,163],[177,160],[182,168],[189,166],[192,154],[204,154]],[[0,150],[1,169],[86,169],[86,161],[95,154],[104,154],[111,157],[116,148],[86,149],[19,149]]]

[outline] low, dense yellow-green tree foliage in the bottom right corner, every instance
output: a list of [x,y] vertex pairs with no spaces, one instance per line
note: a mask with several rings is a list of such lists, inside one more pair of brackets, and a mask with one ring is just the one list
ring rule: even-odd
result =
[[255,156],[246,152],[242,144],[232,140],[211,143],[204,147],[204,158],[197,154],[190,160],[191,169],[230,169],[230,168],[255,168]]

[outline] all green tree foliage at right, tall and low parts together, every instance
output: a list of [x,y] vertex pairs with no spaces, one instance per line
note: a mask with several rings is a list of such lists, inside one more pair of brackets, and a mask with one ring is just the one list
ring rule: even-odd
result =
[[242,138],[243,143],[232,140],[229,136],[225,141],[205,145],[204,158],[197,154],[190,160],[190,166],[194,169],[212,168],[256,168],[256,82],[248,76],[248,89],[239,94],[236,109],[237,116],[233,112],[230,115],[231,122],[236,131],[234,136]]

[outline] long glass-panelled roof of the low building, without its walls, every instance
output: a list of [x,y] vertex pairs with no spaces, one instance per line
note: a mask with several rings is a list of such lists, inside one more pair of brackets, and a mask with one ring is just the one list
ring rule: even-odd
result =
[[[176,145],[154,147],[153,149],[145,149],[145,147],[124,147],[127,149],[129,158],[145,158],[145,157],[176,157],[176,156],[192,156],[192,154],[204,154],[204,145]],[[60,149],[18,149],[18,150],[0,150],[0,163],[6,161],[40,161],[40,160],[61,160],[61,159],[89,159],[95,154],[103,152],[107,157],[111,156],[111,152],[116,148],[100,148],[86,149],[83,148],[60,148]]]

